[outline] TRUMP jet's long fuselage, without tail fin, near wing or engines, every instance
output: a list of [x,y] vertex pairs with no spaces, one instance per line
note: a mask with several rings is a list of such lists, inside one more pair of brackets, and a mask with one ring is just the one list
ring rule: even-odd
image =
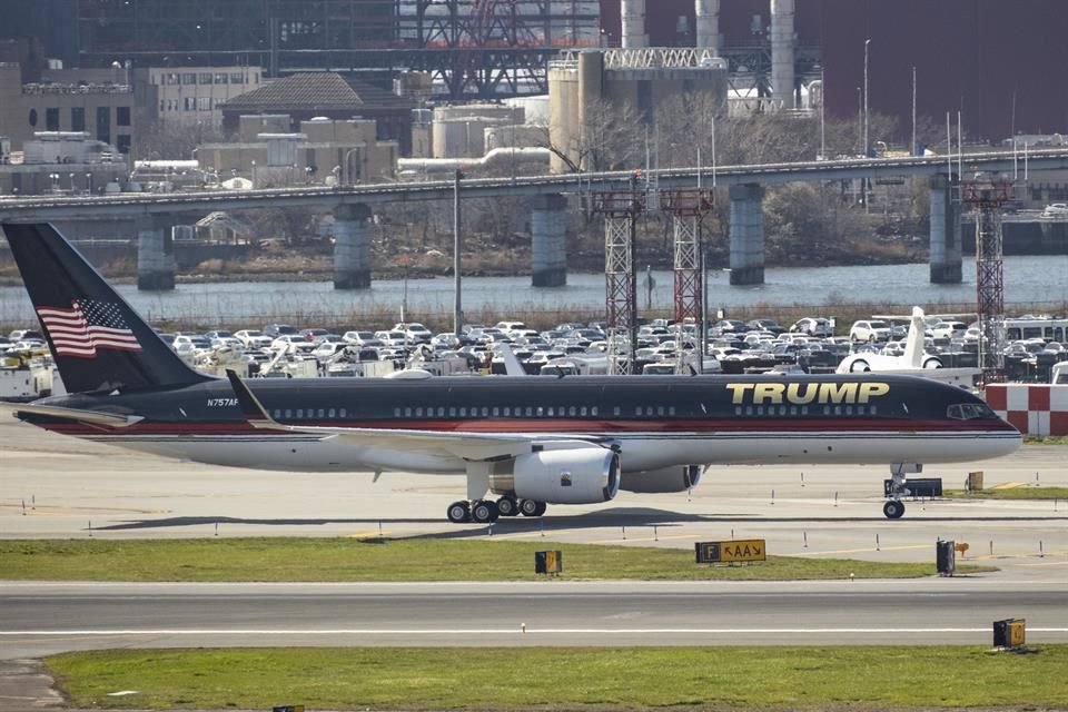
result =
[[[887,374],[253,379],[248,385],[281,424],[595,439],[619,446],[624,472],[685,464],[968,462],[1006,455],[1020,444],[1019,433],[975,395]],[[308,472],[465,469],[446,453],[256,429],[226,380],[39,403],[141,419],[111,428],[19,416],[49,431],[204,463]]]

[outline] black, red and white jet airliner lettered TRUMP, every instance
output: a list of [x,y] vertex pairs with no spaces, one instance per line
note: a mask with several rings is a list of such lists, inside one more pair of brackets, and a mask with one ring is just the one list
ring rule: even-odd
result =
[[889,464],[890,518],[923,463],[1007,455],[976,395],[889,374],[243,380],[194,370],[51,225],[4,224],[69,395],[39,427],[236,467],[465,475],[453,522],[540,516],[620,490],[682,492],[728,464]]

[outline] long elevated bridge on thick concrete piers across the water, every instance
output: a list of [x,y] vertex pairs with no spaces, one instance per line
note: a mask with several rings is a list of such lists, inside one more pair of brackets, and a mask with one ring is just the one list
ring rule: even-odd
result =
[[[763,281],[764,234],[760,204],[770,185],[795,181],[839,181],[924,176],[931,191],[931,281],[959,283],[960,205],[953,199],[961,174],[1008,174],[1068,170],[1068,150],[1037,150],[1024,154],[979,152],[957,156],[904,158],[859,158],[793,164],[761,164],[712,168],[669,168],[655,171],[605,171],[512,178],[472,178],[461,181],[461,195],[471,198],[526,197],[532,211],[535,286],[557,286],[566,280],[564,196],[632,189],[635,174],[641,184],[660,189],[726,186],[731,215],[750,216],[732,220],[731,284]],[[640,187],[641,189],[641,187]],[[452,180],[388,182],[342,187],[307,187],[266,190],[210,190],[174,194],[117,194],[106,196],[42,196],[0,198],[0,220],[138,220],[138,284],[142,288],[169,288],[172,267],[165,254],[167,218],[180,212],[257,208],[318,208],[335,217],[335,286],[359,288],[370,285],[367,222],[373,207],[382,204],[448,200]],[[169,276],[168,276],[169,270]]]

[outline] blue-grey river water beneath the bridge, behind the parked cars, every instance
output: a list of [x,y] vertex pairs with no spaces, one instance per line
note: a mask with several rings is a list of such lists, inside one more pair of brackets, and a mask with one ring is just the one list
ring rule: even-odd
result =
[[[673,277],[652,273],[655,286],[651,306],[670,310]],[[763,285],[732,287],[725,271],[710,273],[709,305],[730,313],[732,307],[794,307],[842,304],[912,305],[937,310],[939,305],[975,304],[975,264],[966,258],[965,283],[932,285],[926,263],[864,267],[769,268]],[[646,308],[646,274],[639,275],[639,307]],[[150,322],[196,322],[202,325],[247,324],[259,327],[276,319],[298,324],[360,325],[368,315],[396,315],[407,295],[413,317],[444,317],[453,310],[453,280],[384,279],[370,289],[337,291],[328,281],[220,283],[179,285],[170,293],[142,293],[134,285],[118,291]],[[1060,312],[1068,301],[1068,256],[1005,258],[1005,303],[1028,309]],[[530,277],[471,277],[464,279],[463,305],[467,314],[492,310],[498,318],[536,312],[589,313],[603,309],[604,275],[572,274],[567,286],[534,288]],[[34,323],[21,287],[0,287],[0,324]]]

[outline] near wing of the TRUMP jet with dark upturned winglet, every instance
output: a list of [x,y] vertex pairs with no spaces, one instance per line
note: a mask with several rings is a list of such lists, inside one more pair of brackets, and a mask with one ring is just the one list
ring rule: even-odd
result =
[[[427,431],[405,431],[395,428],[360,427],[320,427],[286,425],[274,419],[256,395],[233,370],[227,377],[237,396],[238,404],[249,425],[269,431],[307,433],[324,437],[338,437],[352,445],[365,447],[388,447],[395,449],[419,451],[432,454],[447,453],[461,459],[490,459],[531,452],[532,445],[540,441],[560,442],[560,436],[538,438],[522,435],[502,435],[495,433],[431,433]],[[568,436],[568,441],[582,441],[602,445],[600,439]]]

